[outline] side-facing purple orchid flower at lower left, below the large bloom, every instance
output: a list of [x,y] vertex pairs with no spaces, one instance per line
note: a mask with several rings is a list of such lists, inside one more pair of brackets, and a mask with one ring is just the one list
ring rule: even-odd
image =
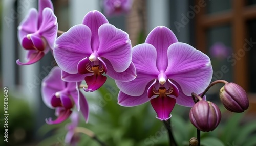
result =
[[54,67],[49,75],[42,80],[42,100],[49,108],[55,109],[57,119],[46,119],[47,124],[58,124],[66,120],[72,113],[74,104],[81,110],[86,122],[89,117],[89,107],[86,98],[79,91],[80,82],[65,82],[61,80],[61,69]]

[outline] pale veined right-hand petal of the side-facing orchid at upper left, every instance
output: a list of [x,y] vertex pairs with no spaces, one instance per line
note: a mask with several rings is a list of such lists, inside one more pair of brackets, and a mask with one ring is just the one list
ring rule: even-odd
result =
[[54,43],[57,38],[57,31],[57,17],[54,15],[52,9],[45,8],[44,11],[42,11],[42,23],[38,33],[47,40],[51,49],[54,47]]

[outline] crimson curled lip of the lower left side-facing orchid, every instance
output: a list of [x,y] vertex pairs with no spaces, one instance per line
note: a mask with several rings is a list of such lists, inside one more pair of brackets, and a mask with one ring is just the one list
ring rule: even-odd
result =
[[46,119],[46,123],[49,125],[59,124],[59,123],[65,121],[70,116],[71,113],[72,113],[72,111],[70,109],[61,108],[57,119],[52,120],[52,118],[50,117],[49,119]]

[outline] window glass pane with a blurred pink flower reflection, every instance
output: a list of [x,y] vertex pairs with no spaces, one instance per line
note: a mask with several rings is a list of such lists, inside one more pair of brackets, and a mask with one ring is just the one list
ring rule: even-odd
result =
[[[233,49],[231,47],[231,33],[230,25],[214,27],[207,31],[207,54],[211,59],[212,68],[214,69],[212,81],[226,80],[232,82],[233,68],[230,59]],[[207,98],[215,100],[222,86],[223,84],[213,86],[212,92],[209,92],[210,95],[207,95]]]

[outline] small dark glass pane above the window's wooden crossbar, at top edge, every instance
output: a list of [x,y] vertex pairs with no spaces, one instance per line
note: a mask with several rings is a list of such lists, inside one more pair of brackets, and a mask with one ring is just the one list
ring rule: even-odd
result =
[[231,0],[222,1],[222,0],[215,0],[210,1],[206,0],[206,13],[216,13],[216,12],[222,12],[227,11],[231,9]]

